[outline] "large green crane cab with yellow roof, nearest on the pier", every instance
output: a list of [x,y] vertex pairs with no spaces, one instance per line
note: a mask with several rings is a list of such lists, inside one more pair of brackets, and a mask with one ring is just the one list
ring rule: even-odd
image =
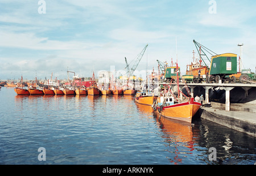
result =
[[237,74],[237,54],[214,55],[210,63],[210,75]]

